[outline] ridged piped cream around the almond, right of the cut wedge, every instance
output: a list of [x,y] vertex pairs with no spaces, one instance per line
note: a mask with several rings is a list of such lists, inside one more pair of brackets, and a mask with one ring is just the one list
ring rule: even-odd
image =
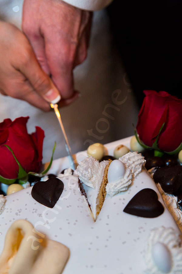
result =
[[142,171],[143,164],[146,162],[144,157],[141,156],[141,153],[138,154],[136,151],[125,154],[120,157],[119,160],[124,164],[126,172],[123,177],[119,177],[117,180],[114,178],[113,181],[110,180],[110,182],[108,182],[106,192],[110,196],[127,190],[132,183],[132,179]]

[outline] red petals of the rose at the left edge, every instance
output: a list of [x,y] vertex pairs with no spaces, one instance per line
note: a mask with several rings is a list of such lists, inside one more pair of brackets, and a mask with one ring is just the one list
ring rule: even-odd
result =
[[0,175],[2,177],[17,178],[19,171],[11,151],[4,145],[12,149],[27,173],[38,172],[41,168],[44,131],[36,127],[36,132],[28,134],[26,128],[28,119],[29,117],[20,117],[13,122],[5,119],[0,123]]

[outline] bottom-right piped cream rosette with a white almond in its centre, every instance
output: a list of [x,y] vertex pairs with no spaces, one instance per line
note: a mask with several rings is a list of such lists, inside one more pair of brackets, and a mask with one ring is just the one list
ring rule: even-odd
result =
[[180,235],[171,227],[154,228],[146,242],[144,258],[147,274],[182,273]]

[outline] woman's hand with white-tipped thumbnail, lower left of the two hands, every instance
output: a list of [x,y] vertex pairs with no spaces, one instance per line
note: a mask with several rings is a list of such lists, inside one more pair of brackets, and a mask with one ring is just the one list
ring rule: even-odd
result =
[[60,94],[40,67],[29,41],[15,26],[0,21],[0,92],[44,111]]

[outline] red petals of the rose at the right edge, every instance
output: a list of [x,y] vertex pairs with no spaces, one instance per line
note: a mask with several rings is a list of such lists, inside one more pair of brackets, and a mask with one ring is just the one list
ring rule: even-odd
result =
[[144,93],[136,126],[140,139],[151,147],[165,123],[158,137],[158,148],[167,152],[177,149],[182,142],[182,100],[165,91]]

